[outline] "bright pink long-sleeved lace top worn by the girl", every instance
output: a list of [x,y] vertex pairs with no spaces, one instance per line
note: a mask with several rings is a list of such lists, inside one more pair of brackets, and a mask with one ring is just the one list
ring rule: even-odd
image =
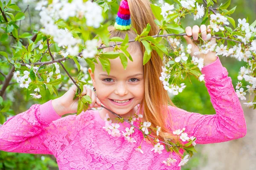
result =
[[[175,130],[186,128],[188,136],[195,136],[197,144],[238,139],[247,133],[244,112],[234,91],[231,78],[219,58],[202,69],[206,87],[216,114],[202,115],[169,106]],[[184,92],[186,93],[186,92]],[[120,132],[130,125],[119,123]],[[136,125],[136,123],[134,123]],[[61,118],[54,111],[51,100],[32,105],[29,110],[8,119],[0,127],[0,150],[16,153],[52,154],[60,170],[180,170],[180,158],[167,167],[162,163],[169,153],[150,151],[153,145],[143,141],[144,154],[134,149],[143,134],[134,130],[136,143],[128,143],[122,136],[113,137],[102,127],[99,111],[88,110]],[[180,150],[183,153],[184,150]]]

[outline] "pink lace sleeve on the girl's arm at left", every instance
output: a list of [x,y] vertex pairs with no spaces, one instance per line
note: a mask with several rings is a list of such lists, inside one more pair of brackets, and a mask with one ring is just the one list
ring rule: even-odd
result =
[[0,150],[54,156],[65,150],[91,116],[79,114],[61,118],[51,102],[32,105],[29,110],[8,119],[0,127]]

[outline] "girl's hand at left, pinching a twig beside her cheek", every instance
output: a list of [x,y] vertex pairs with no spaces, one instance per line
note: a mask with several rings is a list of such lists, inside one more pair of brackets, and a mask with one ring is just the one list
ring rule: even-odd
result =
[[[63,96],[52,100],[52,106],[59,116],[62,116],[67,113],[77,112],[78,98],[73,100],[76,94],[76,89],[76,85],[72,85],[71,88]],[[81,95],[90,96],[90,98],[92,99],[92,103],[89,105],[88,109],[101,107],[101,102],[99,98],[96,96],[96,93],[92,91],[90,88],[87,88],[85,85]]]

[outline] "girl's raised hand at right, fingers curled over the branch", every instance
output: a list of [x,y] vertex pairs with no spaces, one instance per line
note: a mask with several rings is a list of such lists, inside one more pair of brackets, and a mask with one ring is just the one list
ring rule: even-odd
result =
[[[191,44],[192,45],[192,48],[191,48],[191,53],[190,55],[191,56],[195,56],[195,57],[198,57],[198,59],[200,57],[202,57],[204,59],[204,66],[206,65],[209,65],[211,64],[212,62],[215,62],[217,57],[215,56],[216,52],[212,52],[212,51],[209,51],[208,54],[197,54],[195,55],[194,53],[195,52],[198,52],[199,51],[199,48],[198,46],[193,42],[193,41],[196,41],[198,40],[198,33],[201,32],[201,38],[203,40],[207,40],[207,33],[210,32],[210,29],[209,29],[209,26],[206,26],[205,25],[201,25],[200,28],[199,26],[193,26],[193,28],[191,28],[190,26],[186,27],[185,29],[186,31],[186,35],[184,35],[183,37],[185,38],[187,44]],[[193,37],[193,40],[191,39],[191,36]],[[215,44],[216,43],[216,39],[215,38],[211,38],[210,41]]]

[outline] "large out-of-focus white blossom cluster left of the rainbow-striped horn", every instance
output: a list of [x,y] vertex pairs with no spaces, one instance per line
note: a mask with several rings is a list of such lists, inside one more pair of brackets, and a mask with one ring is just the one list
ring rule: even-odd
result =
[[[36,10],[41,10],[39,13],[40,22],[44,26],[41,31],[51,35],[59,47],[67,48],[67,52],[70,55],[76,56],[79,53],[78,45],[81,40],[74,38],[67,28],[58,29],[55,21],[59,19],[67,20],[69,17],[78,17],[79,19],[85,17],[87,26],[99,28],[100,23],[103,21],[102,7],[91,1],[84,3],[83,0],[73,0],[71,3],[68,0],[53,0],[49,6],[47,4],[46,0],[42,0],[38,2],[35,8]],[[43,48],[42,44],[39,48]]]

